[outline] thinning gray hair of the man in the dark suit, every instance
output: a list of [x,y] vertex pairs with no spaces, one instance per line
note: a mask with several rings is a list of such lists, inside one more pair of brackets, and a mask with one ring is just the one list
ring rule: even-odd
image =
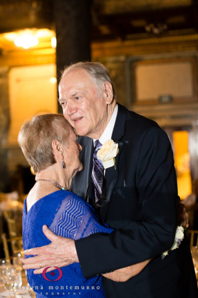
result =
[[110,77],[110,74],[108,70],[105,68],[105,66],[99,62],[78,62],[78,63],[72,64],[63,70],[61,78],[69,71],[72,71],[78,68],[84,69],[85,71],[88,72],[88,74],[91,74],[91,76],[93,77],[98,87],[99,97],[102,95],[102,85],[105,82],[109,82],[112,86],[113,98],[116,98],[115,87]]

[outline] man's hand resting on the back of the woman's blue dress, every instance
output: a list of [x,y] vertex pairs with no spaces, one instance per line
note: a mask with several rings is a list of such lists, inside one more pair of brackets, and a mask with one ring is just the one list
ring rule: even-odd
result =
[[43,226],[43,232],[51,243],[45,246],[25,250],[25,255],[36,256],[20,259],[21,262],[24,263],[24,269],[37,269],[34,273],[39,274],[43,272],[44,268],[49,266],[63,267],[79,262],[73,239],[55,235],[49,230],[47,225]]

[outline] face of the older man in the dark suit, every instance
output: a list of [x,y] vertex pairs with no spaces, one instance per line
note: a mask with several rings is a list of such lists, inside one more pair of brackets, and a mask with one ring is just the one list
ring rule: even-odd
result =
[[98,139],[106,127],[108,105],[92,76],[84,69],[71,70],[60,80],[58,91],[64,117],[76,133]]

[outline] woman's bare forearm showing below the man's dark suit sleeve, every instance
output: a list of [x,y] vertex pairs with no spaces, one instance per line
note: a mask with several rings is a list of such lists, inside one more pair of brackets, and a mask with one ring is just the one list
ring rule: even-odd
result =
[[102,274],[102,276],[111,279],[114,282],[126,282],[133,276],[139,274],[147,266],[150,260],[151,259],[148,259],[128,267],[120,268],[113,272]]

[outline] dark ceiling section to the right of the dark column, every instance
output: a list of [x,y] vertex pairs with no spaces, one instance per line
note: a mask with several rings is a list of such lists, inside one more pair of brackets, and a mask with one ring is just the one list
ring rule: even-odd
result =
[[92,39],[130,40],[198,32],[195,0],[95,0]]

